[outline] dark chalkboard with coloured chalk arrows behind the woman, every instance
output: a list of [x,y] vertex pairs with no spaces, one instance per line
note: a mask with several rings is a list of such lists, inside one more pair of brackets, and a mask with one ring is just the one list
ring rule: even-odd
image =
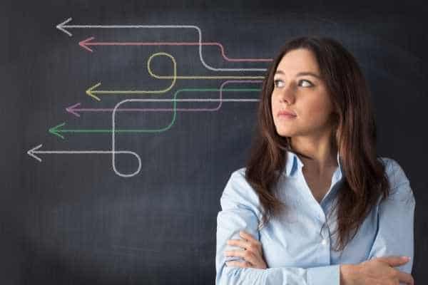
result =
[[266,2],[1,2],[1,284],[214,284],[220,195],[303,35],[360,63],[428,281],[427,5]]

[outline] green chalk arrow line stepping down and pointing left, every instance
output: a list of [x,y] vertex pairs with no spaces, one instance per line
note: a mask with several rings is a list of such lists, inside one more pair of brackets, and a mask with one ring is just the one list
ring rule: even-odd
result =
[[[176,118],[176,114],[177,114],[177,101],[175,100],[177,98],[178,93],[180,92],[209,92],[209,91],[220,91],[220,89],[218,88],[185,88],[185,89],[180,89],[177,90],[174,94],[174,107],[173,107],[173,119],[171,120],[171,122],[169,123],[169,125],[167,125],[165,128],[160,128],[160,129],[141,129],[141,130],[127,130],[127,129],[116,129],[114,130],[115,133],[161,133],[164,132],[165,130],[170,129],[174,122],[175,122],[175,118]],[[260,89],[255,89],[255,88],[225,88],[222,89],[222,92],[259,92]],[[61,133],[113,133],[113,130],[111,129],[60,129],[63,125],[66,125],[66,123],[61,123],[59,125],[56,125],[55,127],[52,127],[49,129],[49,133],[53,134],[53,135],[57,135],[59,138],[64,138],[63,135],[61,135]]]

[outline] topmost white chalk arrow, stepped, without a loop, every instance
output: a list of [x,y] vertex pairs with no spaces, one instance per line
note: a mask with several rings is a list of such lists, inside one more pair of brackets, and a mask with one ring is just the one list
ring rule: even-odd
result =
[[72,19],[68,18],[66,21],[63,21],[61,24],[56,25],[59,31],[63,31],[72,36],[72,33],[68,31],[71,28],[191,28],[195,29],[198,32],[198,43],[199,43],[199,58],[200,62],[205,66],[205,68],[210,71],[266,71],[266,68],[213,68],[209,66],[203,60],[202,56],[202,31],[198,26],[194,25],[69,25]]

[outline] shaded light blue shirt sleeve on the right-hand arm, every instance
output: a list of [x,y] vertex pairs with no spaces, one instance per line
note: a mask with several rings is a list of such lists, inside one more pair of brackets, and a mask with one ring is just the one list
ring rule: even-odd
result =
[[377,204],[377,234],[369,259],[392,255],[410,257],[406,264],[396,269],[411,274],[415,199],[407,176],[395,160],[387,159],[386,172],[391,190],[389,197]]

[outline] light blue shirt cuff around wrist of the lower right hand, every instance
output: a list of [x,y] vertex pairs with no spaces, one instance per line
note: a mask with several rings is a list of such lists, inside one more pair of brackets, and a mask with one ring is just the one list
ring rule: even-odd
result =
[[340,264],[308,268],[307,281],[310,285],[340,285]]

